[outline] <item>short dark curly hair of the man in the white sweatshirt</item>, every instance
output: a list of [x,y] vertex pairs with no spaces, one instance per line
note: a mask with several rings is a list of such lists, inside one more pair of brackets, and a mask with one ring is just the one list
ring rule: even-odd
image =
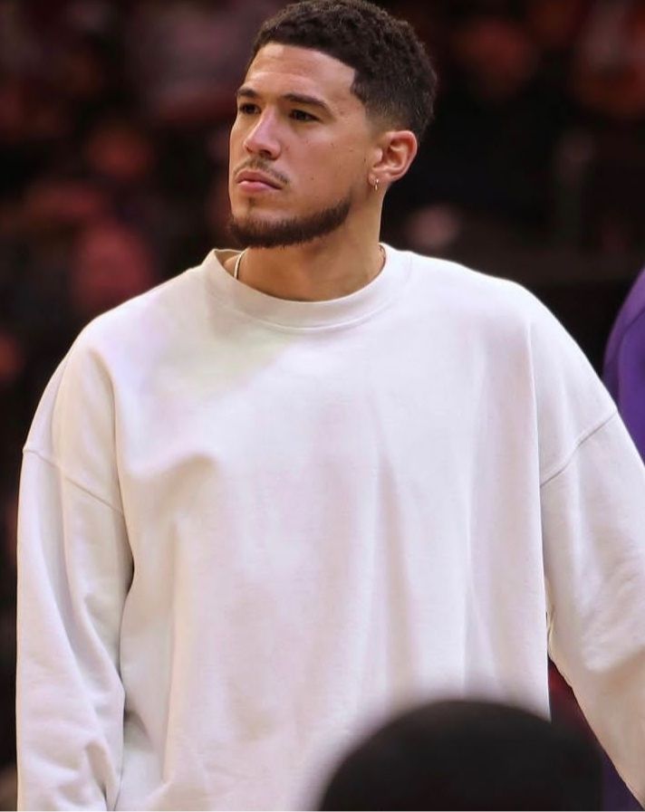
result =
[[[437,74],[405,20],[366,0],[303,0],[265,21],[251,61],[267,43],[321,51],[353,68],[351,91],[368,114],[410,129],[419,141],[432,119]],[[249,62],[249,64],[250,64]]]

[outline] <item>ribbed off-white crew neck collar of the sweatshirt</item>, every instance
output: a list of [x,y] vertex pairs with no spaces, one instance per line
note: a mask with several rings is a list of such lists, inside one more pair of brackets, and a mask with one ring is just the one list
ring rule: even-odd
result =
[[402,291],[409,276],[404,254],[382,244],[385,263],[371,282],[358,291],[325,301],[277,299],[234,279],[224,263],[238,252],[214,249],[204,260],[208,281],[217,298],[227,306],[253,319],[292,329],[341,326],[363,320],[385,307]]

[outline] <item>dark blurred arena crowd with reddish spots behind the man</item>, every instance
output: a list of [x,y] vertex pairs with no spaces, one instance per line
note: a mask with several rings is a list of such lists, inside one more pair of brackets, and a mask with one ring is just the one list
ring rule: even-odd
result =
[[[34,408],[83,324],[232,244],[234,93],[282,5],[0,0],[0,808],[14,781],[15,503]],[[600,371],[645,264],[645,4],[380,5],[414,24],[440,75],[383,239],[522,282]],[[556,711],[582,724],[557,674],[553,686]]]

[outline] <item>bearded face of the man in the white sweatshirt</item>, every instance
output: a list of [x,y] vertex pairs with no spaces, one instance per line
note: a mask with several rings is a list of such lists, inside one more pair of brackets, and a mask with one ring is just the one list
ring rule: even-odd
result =
[[247,245],[308,242],[369,194],[375,148],[354,71],[319,51],[268,43],[238,91],[231,130],[232,231]]

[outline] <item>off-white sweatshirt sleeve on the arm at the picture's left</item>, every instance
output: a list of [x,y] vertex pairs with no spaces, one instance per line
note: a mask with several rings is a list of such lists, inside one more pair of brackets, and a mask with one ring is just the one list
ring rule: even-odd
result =
[[18,541],[19,808],[114,807],[132,563],[115,486],[109,382],[59,368],[24,450]]

